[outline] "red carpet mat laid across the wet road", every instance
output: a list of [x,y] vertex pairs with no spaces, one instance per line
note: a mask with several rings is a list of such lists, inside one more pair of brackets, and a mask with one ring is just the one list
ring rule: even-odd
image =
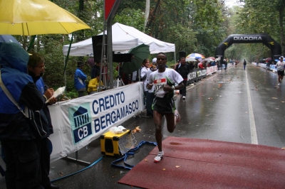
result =
[[119,183],[139,188],[285,188],[285,150],[170,136]]

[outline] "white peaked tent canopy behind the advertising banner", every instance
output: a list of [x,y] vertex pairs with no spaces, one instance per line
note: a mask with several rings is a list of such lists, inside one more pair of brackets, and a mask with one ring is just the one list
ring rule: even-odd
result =
[[[98,36],[100,35],[103,35],[103,33],[98,34]],[[124,52],[145,43],[145,45],[150,45],[150,54],[175,52],[175,44],[159,41],[133,27],[125,26],[121,23],[115,23],[112,26],[112,42],[113,51]],[[63,46],[63,55],[67,55],[68,48],[69,45]],[[86,56],[91,53],[93,53],[92,38],[88,38],[85,41],[73,43],[69,55]]]

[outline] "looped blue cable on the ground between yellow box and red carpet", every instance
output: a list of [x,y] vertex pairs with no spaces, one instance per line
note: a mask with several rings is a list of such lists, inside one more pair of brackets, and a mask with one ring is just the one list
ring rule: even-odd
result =
[[[151,144],[151,145],[154,145],[154,146],[157,146],[157,143],[156,142],[149,142],[149,141],[141,141],[140,144],[138,144],[138,146],[136,146],[135,148],[131,148],[127,153],[124,154],[124,156],[122,158],[118,158],[117,160],[113,161],[111,163],[112,166],[115,166],[115,167],[118,167],[118,168],[125,168],[125,169],[128,169],[128,170],[131,170],[134,166],[133,165],[130,165],[128,164],[126,161],[127,161],[127,158],[128,156],[134,156],[135,155],[135,152],[134,151],[137,151],[138,148],[140,148],[140,146],[142,146],[143,144]],[[126,166],[121,166],[121,165],[117,165],[116,163],[120,162],[120,161],[124,161],[125,165]]]

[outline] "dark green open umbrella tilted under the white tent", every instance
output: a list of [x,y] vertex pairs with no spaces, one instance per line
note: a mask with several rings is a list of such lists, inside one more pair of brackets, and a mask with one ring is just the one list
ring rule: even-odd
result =
[[123,63],[122,68],[123,72],[131,74],[139,70],[142,66],[143,60],[148,58],[148,56],[150,55],[150,46],[142,43],[141,45],[130,49],[128,53],[133,54],[133,59],[131,62]]

